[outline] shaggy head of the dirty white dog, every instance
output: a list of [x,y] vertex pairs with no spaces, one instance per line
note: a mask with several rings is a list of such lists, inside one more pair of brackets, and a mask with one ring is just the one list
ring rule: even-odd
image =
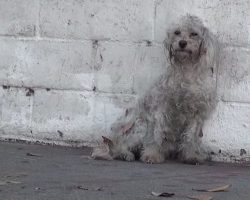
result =
[[214,37],[198,17],[187,15],[174,24],[164,41],[169,59],[181,65],[213,62]]

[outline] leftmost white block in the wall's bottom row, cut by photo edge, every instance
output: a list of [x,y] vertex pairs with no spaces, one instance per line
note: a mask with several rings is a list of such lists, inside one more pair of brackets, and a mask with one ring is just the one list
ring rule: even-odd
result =
[[25,88],[2,89],[1,131],[4,134],[29,134],[33,94]]

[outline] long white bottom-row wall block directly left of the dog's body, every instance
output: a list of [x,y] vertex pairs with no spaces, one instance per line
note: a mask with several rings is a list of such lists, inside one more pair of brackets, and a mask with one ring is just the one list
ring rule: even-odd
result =
[[32,130],[39,139],[93,142],[108,134],[111,124],[132,100],[126,96],[40,90],[35,94]]

